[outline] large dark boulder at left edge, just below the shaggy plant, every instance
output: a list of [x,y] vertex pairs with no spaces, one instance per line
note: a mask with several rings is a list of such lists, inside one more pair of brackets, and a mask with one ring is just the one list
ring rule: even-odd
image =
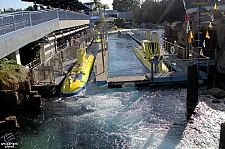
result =
[[16,106],[24,100],[24,96],[22,94],[12,90],[1,90],[0,97],[0,105],[4,108]]

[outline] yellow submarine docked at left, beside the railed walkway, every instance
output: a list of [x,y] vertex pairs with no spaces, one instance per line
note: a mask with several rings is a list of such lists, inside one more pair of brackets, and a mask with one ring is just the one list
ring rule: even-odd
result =
[[86,50],[84,48],[78,49],[77,64],[66,75],[61,87],[61,93],[63,95],[76,95],[85,88],[92,71],[94,60],[94,55],[90,55],[88,58],[86,57]]

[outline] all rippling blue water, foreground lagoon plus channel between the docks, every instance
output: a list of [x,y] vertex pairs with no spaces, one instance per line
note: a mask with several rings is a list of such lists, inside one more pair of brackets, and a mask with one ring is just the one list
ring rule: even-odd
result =
[[[129,45],[124,45],[123,41]],[[109,45],[111,76],[127,75],[122,69],[126,67],[129,67],[127,71],[131,75],[133,72],[137,75],[145,72],[132,55],[131,50],[136,43],[112,35]],[[118,58],[113,63],[112,57],[123,57],[124,61]],[[133,63],[138,66],[131,65]],[[202,90],[200,98],[209,99]],[[200,111],[206,110],[209,114],[197,112],[199,114],[193,122],[188,123],[185,100],[186,88],[174,85],[109,89],[107,86],[96,87],[89,81],[86,90],[78,96],[45,99],[42,111],[30,116],[26,124],[18,129],[18,148],[218,148],[219,122],[205,127],[202,124],[213,120],[215,115],[215,121],[225,120],[222,116],[224,112],[202,104]]]

